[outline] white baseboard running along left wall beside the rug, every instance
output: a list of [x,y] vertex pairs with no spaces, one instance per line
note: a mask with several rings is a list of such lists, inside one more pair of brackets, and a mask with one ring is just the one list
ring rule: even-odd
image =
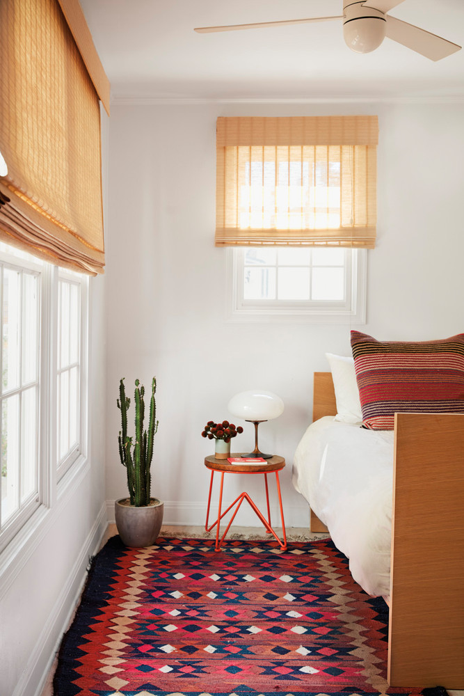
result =
[[72,617],[72,612],[79,601],[79,596],[86,580],[86,569],[89,559],[97,553],[107,525],[106,506],[102,505],[97,519],[93,523],[79,556],[72,567],[67,583],[58,595],[47,623],[35,643],[35,649],[31,653],[26,669],[17,683],[13,696],[40,696],[42,693],[56,651],[63,638],[63,633],[65,633]]

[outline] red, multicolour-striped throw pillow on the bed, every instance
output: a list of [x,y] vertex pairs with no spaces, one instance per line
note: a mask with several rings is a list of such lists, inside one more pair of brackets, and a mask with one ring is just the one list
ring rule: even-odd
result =
[[392,430],[394,413],[464,413],[464,333],[424,342],[351,331],[362,423]]

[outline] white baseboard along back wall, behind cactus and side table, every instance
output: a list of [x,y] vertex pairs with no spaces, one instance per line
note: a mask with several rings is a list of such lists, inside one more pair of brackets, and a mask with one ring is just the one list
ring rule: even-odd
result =
[[[164,501],[163,524],[173,526],[203,526],[206,519],[206,503],[188,503],[178,502],[174,500]],[[218,501],[211,501],[211,511],[209,513],[209,523],[214,521],[214,514],[217,515]],[[114,523],[114,500],[106,500],[106,511],[108,514],[109,523]],[[266,514],[264,513],[264,516]],[[310,512],[307,505],[296,507],[292,505],[291,509],[284,509],[285,526],[286,527],[307,527],[310,521]],[[280,526],[280,510],[277,506],[271,506],[271,519],[276,526]],[[234,524],[246,527],[260,527],[261,522],[256,516],[251,507],[243,503],[239,513],[237,514]]]

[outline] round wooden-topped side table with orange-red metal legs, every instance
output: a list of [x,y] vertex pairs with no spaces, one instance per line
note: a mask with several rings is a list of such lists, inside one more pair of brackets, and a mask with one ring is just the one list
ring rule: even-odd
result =
[[[238,454],[231,454],[230,457],[240,457],[240,452]],[[266,464],[230,464],[227,459],[216,459],[213,455],[210,455],[209,457],[205,457],[205,466],[211,470],[211,481],[209,483],[209,496],[208,496],[208,507],[207,507],[207,513],[206,513],[206,524],[205,524],[205,530],[207,532],[211,531],[214,527],[216,527],[216,546],[215,546],[215,551],[220,551],[221,550],[221,544],[223,543],[225,539],[225,535],[230,529],[230,526],[232,525],[232,522],[234,521],[234,517],[236,516],[237,512],[239,511],[239,507],[243,503],[243,500],[247,500],[248,503],[250,503],[250,506],[252,509],[255,511],[259,519],[262,521],[264,524],[264,527],[266,528],[266,531],[269,534],[272,534],[273,537],[275,537],[275,540],[278,542],[280,548],[282,551],[285,551],[287,549],[287,535],[285,533],[285,521],[284,521],[284,511],[282,507],[282,494],[280,493],[280,482],[279,482],[279,471],[284,468],[285,466],[285,459],[283,457],[278,457],[277,454],[273,455],[270,459],[266,459]],[[219,505],[218,505],[218,517],[216,519],[216,522],[214,522],[210,527],[208,526],[209,523],[209,508],[211,506],[211,492],[213,490],[213,480],[214,480],[214,473],[218,472],[221,474],[221,484],[220,484],[220,489],[219,489]],[[222,504],[223,504],[223,489],[224,489],[224,474],[225,473],[232,473],[232,474],[247,474],[247,475],[255,475],[255,474],[261,474],[264,475],[264,486],[266,488],[266,505],[267,505],[267,519],[264,517],[262,512],[259,510],[257,505],[253,502],[253,500],[250,498],[248,493],[246,491],[243,491],[239,495],[238,498],[234,500],[233,503],[227,507],[227,509],[222,512]],[[278,494],[278,500],[279,500],[279,507],[280,507],[280,520],[282,522],[282,532],[283,532],[283,540],[281,540],[278,535],[275,533],[271,526],[271,508],[269,506],[269,487],[268,487],[268,481],[267,481],[267,475],[269,473],[275,473],[275,484],[277,487],[277,494]],[[234,512],[232,514],[232,517],[230,519],[230,522],[227,525],[227,528],[225,529],[225,532],[223,532],[223,535],[221,539],[219,538],[219,526],[221,524],[221,519],[227,514],[227,512],[230,512],[232,508],[234,507]]]

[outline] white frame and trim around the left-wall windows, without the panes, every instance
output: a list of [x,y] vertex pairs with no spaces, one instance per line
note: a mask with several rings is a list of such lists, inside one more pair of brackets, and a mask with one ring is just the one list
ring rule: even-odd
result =
[[[38,395],[38,487],[11,519],[0,528],[0,553],[11,559],[24,539],[45,521],[44,513],[71,484],[88,456],[88,333],[90,321],[89,278],[34,259],[29,254],[0,249],[2,266],[32,271],[39,278],[39,395]],[[81,288],[79,445],[58,466],[57,404],[58,375],[58,278],[77,282]],[[1,404],[0,404],[1,405]],[[7,548],[8,547],[8,548]]]

